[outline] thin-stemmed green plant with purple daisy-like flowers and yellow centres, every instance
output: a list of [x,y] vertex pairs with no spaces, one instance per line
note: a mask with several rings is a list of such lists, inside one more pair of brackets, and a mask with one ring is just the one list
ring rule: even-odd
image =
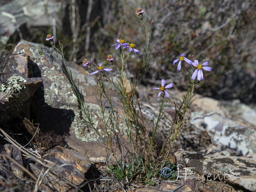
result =
[[[159,89],[158,98],[161,96],[161,101],[159,102],[159,113],[156,117],[156,121],[153,119],[153,127],[151,130],[146,130],[144,125],[143,114],[141,112],[141,104],[137,98],[136,86],[138,85],[141,77],[145,72],[152,66],[148,64],[148,58],[152,52],[149,51],[150,47],[150,28],[152,26],[152,21],[148,21],[148,26],[143,22],[143,13],[145,13],[141,8],[136,11],[143,26],[148,30],[148,44],[144,48],[143,52],[143,62],[140,72],[136,75],[129,74],[128,59],[134,54],[139,55],[139,50],[135,49],[135,44],[125,43],[125,39],[117,39],[116,50],[120,52],[120,61],[114,63],[112,55],[108,55],[107,61],[109,64],[117,71],[116,78],[110,78],[106,75],[113,68],[105,68],[103,64],[99,62],[99,66],[94,63],[93,60],[88,61],[83,60],[84,67],[87,69],[92,69],[91,64],[94,64],[97,69],[92,69],[93,72],[90,75],[98,75],[98,87],[95,88],[98,93],[97,101],[100,106],[100,112],[89,110],[86,103],[84,103],[82,91],[79,91],[79,83],[76,86],[73,80],[71,70],[67,67],[63,54],[63,45],[59,43],[60,50],[58,50],[63,57],[64,66],[66,70],[66,75],[68,76],[68,83],[72,87],[74,94],[77,97],[78,104],[84,113],[84,121],[95,132],[98,136],[98,141],[100,141],[106,149],[107,156],[110,159],[111,156],[114,157],[114,161],[111,166],[108,166],[109,173],[113,174],[116,179],[127,180],[130,182],[133,179],[138,179],[143,183],[154,184],[155,182],[151,180],[155,176],[160,175],[160,171],[164,166],[170,166],[173,170],[174,165],[171,165],[167,161],[168,157],[172,154],[172,148],[175,145],[176,139],[182,134],[181,128],[183,124],[187,121],[185,117],[187,108],[193,102],[192,96],[195,90],[199,87],[200,81],[204,79],[202,69],[206,71],[211,71],[212,68],[206,67],[208,62],[199,64],[198,60],[193,61],[188,60],[185,54],[181,54],[179,59],[174,60],[173,64],[178,62],[177,70],[181,69],[181,64],[188,71],[188,78],[190,79],[190,84],[188,85],[188,91],[183,94],[183,100],[180,100],[180,104],[175,104],[176,116],[170,125],[166,139],[164,140],[162,149],[158,155],[154,152],[154,146],[156,142],[156,133],[160,126],[160,119],[164,114],[164,106],[167,103],[166,98],[169,98],[169,93],[166,91],[167,88],[171,88],[173,84],[165,85],[165,80],[162,79],[161,86],[153,88]],[[50,40],[51,44],[54,45],[53,37],[51,35],[47,36],[47,40]],[[124,52],[124,49],[129,48],[128,54]],[[186,68],[184,61],[193,66],[193,74],[189,72]],[[105,65],[105,64],[104,64]],[[130,89],[128,89],[130,85]],[[108,93],[108,86],[111,87],[111,91],[118,95],[118,99],[122,106],[122,113],[120,115],[120,107],[115,106],[112,103],[111,94]],[[100,124],[96,127],[92,121],[92,116],[97,116]],[[149,136],[151,132],[151,136]],[[125,156],[128,152],[129,156]],[[174,178],[175,172],[166,178]]]

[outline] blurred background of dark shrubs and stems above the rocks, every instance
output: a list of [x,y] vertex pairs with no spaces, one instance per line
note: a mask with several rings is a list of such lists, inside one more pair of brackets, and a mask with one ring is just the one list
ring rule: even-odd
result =
[[[60,41],[68,61],[107,64],[112,54],[118,64],[116,39],[133,43],[127,66],[139,72],[147,29],[135,14],[141,7],[143,22],[155,19],[150,37],[152,68],[141,81],[159,86],[161,79],[186,90],[185,69],[177,71],[174,59],[181,53],[192,60],[209,62],[203,88],[197,93],[218,100],[239,99],[256,103],[256,2],[254,0],[0,0],[0,50],[12,51],[20,39],[42,43],[47,34]],[[128,50],[127,50],[128,52]],[[187,64],[187,67],[190,68]]]

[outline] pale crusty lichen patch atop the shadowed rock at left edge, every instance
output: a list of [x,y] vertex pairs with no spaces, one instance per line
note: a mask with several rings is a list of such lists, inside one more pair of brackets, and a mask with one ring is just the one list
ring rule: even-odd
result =
[[3,82],[0,87],[0,94],[3,95],[5,92],[8,92],[8,96],[4,98],[4,102],[9,102],[9,98],[18,96],[20,94],[20,90],[25,88],[25,85],[20,85],[19,83],[27,83],[27,80],[22,76],[14,74],[8,80]]

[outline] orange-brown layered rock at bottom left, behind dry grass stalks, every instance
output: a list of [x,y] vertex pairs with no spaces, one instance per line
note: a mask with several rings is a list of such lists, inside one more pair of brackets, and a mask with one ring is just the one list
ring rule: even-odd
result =
[[[52,167],[48,172],[49,176],[53,178],[50,184],[57,191],[75,190],[84,181],[84,174],[91,166],[91,162],[86,156],[74,149],[62,146],[51,149],[43,158],[44,163]],[[30,167],[36,175],[39,175],[43,169],[47,170],[47,167],[43,168],[38,163],[30,164]],[[62,180],[63,183],[56,182],[56,180]]]

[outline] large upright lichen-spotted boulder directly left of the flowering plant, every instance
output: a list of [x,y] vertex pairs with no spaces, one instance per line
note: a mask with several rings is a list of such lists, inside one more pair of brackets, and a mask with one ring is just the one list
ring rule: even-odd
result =
[[[96,134],[86,127],[81,118],[83,113],[68,83],[68,78],[64,74],[62,56],[53,48],[25,40],[21,40],[17,44],[13,54],[29,56],[34,77],[43,79],[42,85],[33,98],[33,102],[39,110],[31,112],[34,115],[39,113],[35,117],[31,116],[31,119],[34,119],[34,123],[40,124],[41,131],[54,131],[58,135],[67,133],[67,142],[70,147],[90,156],[105,155],[106,151],[97,141]],[[100,108],[95,98],[97,92],[92,88],[92,85],[97,85],[96,76],[88,75],[85,68],[76,63],[67,63],[67,65],[70,66],[76,82],[78,82],[78,77],[80,78],[79,88],[83,92],[88,109],[93,109],[100,114]],[[95,126],[98,126],[99,119],[96,115],[93,115],[93,120]]]

